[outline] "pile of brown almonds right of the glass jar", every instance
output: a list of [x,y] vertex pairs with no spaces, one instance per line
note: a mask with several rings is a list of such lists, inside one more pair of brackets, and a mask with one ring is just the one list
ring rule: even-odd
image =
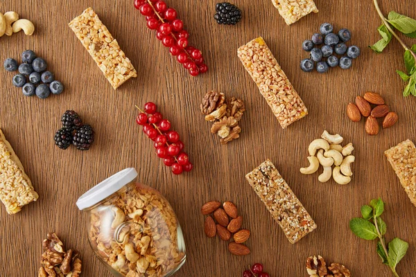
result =
[[241,229],[243,217],[238,215],[236,205],[227,201],[223,203],[223,208],[221,208],[220,202],[211,201],[202,206],[201,212],[202,215],[208,215],[205,218],[204,226],[208,238],[214,238],[215,235],[224,241],[232,238],[234,241],[228,244],[229,252],[237,256],[250,254],[250,249],[242,244],[250,238],[250,231]]

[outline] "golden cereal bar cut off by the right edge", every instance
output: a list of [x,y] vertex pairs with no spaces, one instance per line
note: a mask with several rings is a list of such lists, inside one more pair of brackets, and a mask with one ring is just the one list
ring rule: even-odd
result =
[[410,141],[403,141],[384,152],[399,177],[401,186],[416,206],[416,147]]

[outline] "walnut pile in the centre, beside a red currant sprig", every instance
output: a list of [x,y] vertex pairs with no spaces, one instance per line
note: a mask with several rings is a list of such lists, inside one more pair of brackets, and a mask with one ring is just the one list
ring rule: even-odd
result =
[[209,91],[205,94],[200,109],[205,114],[205,120],[214,122],[211,133],[220,136],[221,144],[240,137],[239,121],[245,111],[243,100],[233,97],[225,101],[224,93]]

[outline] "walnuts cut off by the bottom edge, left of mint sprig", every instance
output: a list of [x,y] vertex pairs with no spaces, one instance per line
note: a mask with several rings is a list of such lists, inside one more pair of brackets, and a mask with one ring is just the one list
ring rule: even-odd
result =
[[331,263],[331,265],[327,267],[324,258],[319,255],[318,258],[316,258],[316,256],[311,256],[306,259],[306,271],[308,271],[309,276],[312,277],[351,277],[351,273],[347,267],[336,262]]

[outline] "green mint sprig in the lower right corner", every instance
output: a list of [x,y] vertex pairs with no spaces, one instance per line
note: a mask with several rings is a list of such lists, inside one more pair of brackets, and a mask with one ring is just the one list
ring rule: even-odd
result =
[[381,198],[372,199],[370,205],[361,207],[363,217],[355,217],[349,222],[349,229],[358,237],[364,240],[376,240],[376,252],[384,265],[388,265],[394,276],[399,277],[396,267],[400,260],[406,255],[409,244],[399,238],[394,238],[385,244],[384,235],[387,232],[387,225],[381,219],[384,212],[384,202]]

